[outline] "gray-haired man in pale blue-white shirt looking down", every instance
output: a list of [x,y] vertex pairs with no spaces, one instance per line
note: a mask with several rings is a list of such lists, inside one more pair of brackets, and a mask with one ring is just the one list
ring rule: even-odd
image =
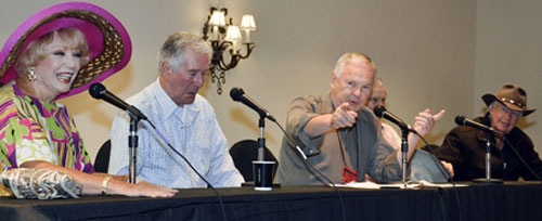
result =
[[[170,147],[182,154],[216,187],[241,186],[243,177],[228,153],[228,142],[212,106],[197,91],[205,82],[212,50],[201,37],[177,32],[159,51],[158,79],[129,98],[152,121],[140,122],[137,176],[170,188],[207,184]],[[119,113],[112,126],[108,172],[128,174],[130,119]],[[167,139],[165,141],[162,136]]]

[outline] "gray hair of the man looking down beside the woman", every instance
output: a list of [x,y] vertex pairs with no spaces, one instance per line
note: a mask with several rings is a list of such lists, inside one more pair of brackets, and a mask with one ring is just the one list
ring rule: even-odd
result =
[[202,37],[183,31],[176,32],[168,37],[158,53],[158,72],[160,73],[160,75],[162,63],[164,62],[168,62],[172,70],[177,73],[179,67],[181,65],[184,65],[184,52],[188,48],[194,50],[194,52],[196,53],[207,54],[207,56],[209,56],[209,60],[212,56],[212,49],[210,48],[209,43]]

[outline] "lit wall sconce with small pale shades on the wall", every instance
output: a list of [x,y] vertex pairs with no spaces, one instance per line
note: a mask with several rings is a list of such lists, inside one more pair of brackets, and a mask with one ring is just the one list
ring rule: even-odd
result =
[[[225,72],[234,68],[240,60],[247,58],[256,47],[250,41],[250,31],[257,30],[254,16],[243,15],[241,25],[233,25],[233,18],[230,17],[225,23],[228,9],[210,8],[210,15],[203,28],[203,38],[210,42],[212,48],[212,57],[210,60],[209,72],[211,81],[217,82],[217,92],[222,94],[222,84],[225,83]],[[241,30],[245,31],[245,38]],[[246,48],[245,55],[242,55],[243,48]],[[228,51],[228,53],[224,53]],[[229,60],[228,60],[229,58]]]

